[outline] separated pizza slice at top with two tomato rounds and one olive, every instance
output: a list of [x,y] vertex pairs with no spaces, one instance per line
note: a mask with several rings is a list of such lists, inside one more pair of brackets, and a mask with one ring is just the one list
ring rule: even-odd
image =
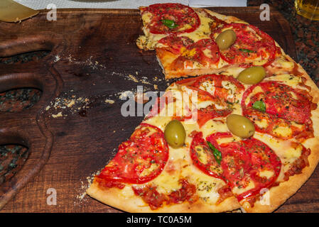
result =
[[232,16],[180,4],[154,4],[140,10],[144,35],[136,45],[156,50],[166,79],[212,74],[228,67],[266,66],[280,52],[269,35]]

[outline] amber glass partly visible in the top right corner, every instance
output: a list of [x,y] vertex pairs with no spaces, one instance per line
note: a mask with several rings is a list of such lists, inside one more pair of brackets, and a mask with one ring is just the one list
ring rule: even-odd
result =
[[312,21],[319,21],[319,0],[295,0],[296,11]]

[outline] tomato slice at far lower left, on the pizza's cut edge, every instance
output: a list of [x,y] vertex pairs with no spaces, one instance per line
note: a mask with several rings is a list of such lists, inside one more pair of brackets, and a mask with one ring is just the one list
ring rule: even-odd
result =
[[111,187],[118,183],[143,184],[157,177],[167,160],[164,133],[156,126],[141,123],[129,140],[119,145],[117,155],[97,178]]

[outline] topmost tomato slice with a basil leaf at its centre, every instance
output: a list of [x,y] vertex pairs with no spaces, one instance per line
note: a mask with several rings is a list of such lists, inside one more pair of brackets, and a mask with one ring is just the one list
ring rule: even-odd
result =
[[[182,4],[153,4],[144,9],[152,14],[148,28],[153,34],[191,33],[200,26],[198,14]],[[165,21],[171,21],[169,26]]]

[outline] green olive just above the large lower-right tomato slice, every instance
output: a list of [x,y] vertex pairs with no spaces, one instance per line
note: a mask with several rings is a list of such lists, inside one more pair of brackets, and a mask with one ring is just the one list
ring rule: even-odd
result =
[[227,127],[229,131],[240,138],[249,138],[255,133],[255,126],[252,121],[238,114],[227,116]]

